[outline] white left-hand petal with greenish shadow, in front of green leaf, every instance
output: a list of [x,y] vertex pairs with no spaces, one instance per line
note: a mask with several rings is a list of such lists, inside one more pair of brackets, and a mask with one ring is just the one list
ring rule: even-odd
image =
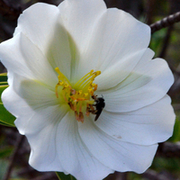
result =
[[29,129],[30,125],[27,125],[29,119],[37,110],[54,106],[64,111],[69,109],[67,104],[62,104],[62,99],[57,99],[54,91],[36,81],[23,79],[15,74],[13,79],[11,78],[11,85],[3,92],[2,100],[8,111],[16,116],[16,126],[21,134],[25,134]]

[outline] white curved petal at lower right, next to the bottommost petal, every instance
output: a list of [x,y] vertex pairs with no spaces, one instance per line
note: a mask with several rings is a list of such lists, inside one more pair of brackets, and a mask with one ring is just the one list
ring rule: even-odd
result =
[[112,138],[98,129],[90,119],[79,123],[79,133],[94,157],[120,172],[144,172],[151,165],[157,149],[157,144],[142,146]]

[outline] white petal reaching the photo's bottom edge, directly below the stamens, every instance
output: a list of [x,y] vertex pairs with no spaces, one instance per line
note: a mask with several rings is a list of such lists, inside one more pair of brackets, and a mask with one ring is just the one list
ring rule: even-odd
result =
[[63,169],[78,180],[103,179],[113,170],[97,161],[79,136],[74,113],[67,114],[56,131],[56,151]]

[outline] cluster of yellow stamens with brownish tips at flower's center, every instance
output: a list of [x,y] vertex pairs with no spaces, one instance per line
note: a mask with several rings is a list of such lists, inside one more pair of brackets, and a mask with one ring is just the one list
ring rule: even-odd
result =
[[[101,74],[101,71],[94,72],[94,70],[91,70],[72,86],[58,67],[55,70],[58,73],[58,83],[55,87],[56,97],[58,98],[59,94],[61,94],[71,110],[75,112],[77,121],[84,122],[83,112],[86,112],[87,116],[90,112],[95,114],[93,104],[97,84],[93,83],[93,81]],[[59,89],[59,87],[62,88]]]

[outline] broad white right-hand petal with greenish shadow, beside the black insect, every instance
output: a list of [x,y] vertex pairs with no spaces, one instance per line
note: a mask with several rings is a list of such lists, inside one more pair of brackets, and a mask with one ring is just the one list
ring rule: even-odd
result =
[[133,111],[165,96],[174,82],[167,63],[162,59],[146,63],[142,63],[142,60],[117,87],[99,92],[104,95],[108,111]]

